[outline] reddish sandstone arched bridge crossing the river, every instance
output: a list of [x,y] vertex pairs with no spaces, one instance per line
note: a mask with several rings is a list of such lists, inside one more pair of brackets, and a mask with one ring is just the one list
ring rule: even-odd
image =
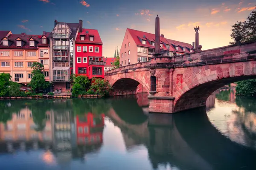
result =
[[256,42],[237,43],[180,56],[155,56],[105,72],[112,96],[148,92],[149,112],[175,113],[206,105],[229,83],[256,78]]

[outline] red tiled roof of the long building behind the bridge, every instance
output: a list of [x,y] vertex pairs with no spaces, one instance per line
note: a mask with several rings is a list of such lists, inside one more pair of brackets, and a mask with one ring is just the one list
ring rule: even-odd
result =
[[[129,31],[129,33],[131,34],[131,37],[134,39],[134,41],[137,45],[142,46],[142,47],[155,48],[154,45],[151,45],[151,42],[155,42],[155,34],[138,31],[138,30],[134,30],[134,29],[130,29],[130,28],[127,28],[127,30]],[[146,44],[143,44],[142,40],[146,40]],[[181,48],[180,48],[180,50],[175,50],[175,45],[178,45],[181,47],[185,46],[186,48],[192,49],[191,44],[166,39],[164,37],[164,35],[160,36],[160,43],[163,44],[163,47],[161,47],[161,49],[164,49],[164,50],[167,50],[166,45],[170,45],[169,51],[178,51],[178,52],[183,52],[183,53],[190,52],[188,49],[186,49],[186,51],[183,51],[183,49],[181,49]]]

